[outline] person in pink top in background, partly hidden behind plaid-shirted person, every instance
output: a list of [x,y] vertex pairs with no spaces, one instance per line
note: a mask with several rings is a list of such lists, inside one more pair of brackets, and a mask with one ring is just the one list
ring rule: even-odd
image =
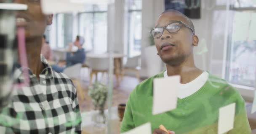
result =
[[50,45],[45,41],[45,35],[43,35],[42,39],[42,49],[41,49],[41,54],[45,57],[47,60],[53,60],[53,52],[51,51]]

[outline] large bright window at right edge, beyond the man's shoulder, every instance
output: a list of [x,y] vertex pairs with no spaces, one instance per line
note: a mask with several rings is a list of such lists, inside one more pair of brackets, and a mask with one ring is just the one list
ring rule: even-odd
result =
[[228,48],[226,79],[253,87],[256,77],[256,13],[235,12]]

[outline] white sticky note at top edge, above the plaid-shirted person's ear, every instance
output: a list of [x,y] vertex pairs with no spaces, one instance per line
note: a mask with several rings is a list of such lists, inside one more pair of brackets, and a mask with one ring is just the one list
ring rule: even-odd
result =
[[85,9],[84,4],[72,3],[70,0],[41,0],[41,7],[45,14],[78,12]]

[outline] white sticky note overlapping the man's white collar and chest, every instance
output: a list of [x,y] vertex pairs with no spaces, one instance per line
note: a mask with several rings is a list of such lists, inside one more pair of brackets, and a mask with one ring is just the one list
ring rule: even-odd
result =
[[180,80],[179,75],[154,79],[153,115],[176,108]]

